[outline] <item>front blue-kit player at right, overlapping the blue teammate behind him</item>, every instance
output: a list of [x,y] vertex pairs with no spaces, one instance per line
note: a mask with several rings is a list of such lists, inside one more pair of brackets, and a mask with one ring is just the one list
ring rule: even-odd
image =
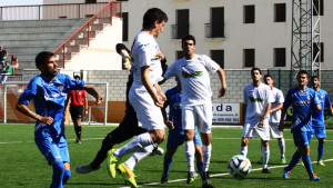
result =
[[320,178],[312,170],[310,160],[310,139],[312,136],[312,113],[320,111],[321,103],[317,93],[307,88],[309,75],[305,70],[300,70],[297,73],[299,86],[287,91],[285,101],[283,103],[279,129],[284,129],[283,118],[289,106],[293,107],[293,117],[291,125],[291,132],[293,133],[294,144],[297,150],[292,157],[290,164],[284,168],[283,178],[289,179],[291,170],[302,157],[303,164],[309,174],[310,180],[319,181]]

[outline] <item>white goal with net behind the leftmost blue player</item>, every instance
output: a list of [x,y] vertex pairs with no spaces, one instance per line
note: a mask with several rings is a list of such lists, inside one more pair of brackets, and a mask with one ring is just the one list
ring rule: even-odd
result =
[[[16,105],[19,97],[26,90],[28,81],[18,82],[4,82],[1,87],[0,93],[0,121],[7,122],[36,122],[32,118],[29,118],[18,110],[16,110]],[[108,121],[108,82],[85,82],[85,85],[94,88],[101,96],[103,96],[103,101],[100,105],[95,105],[95,99],[87,93],[89,113],[83,117],[83,123],[102,123],[107,125]],[[29,108],[34,111],[33,101],[30,101]],[[65,120],[70,120],[69,110],[67,110]]]

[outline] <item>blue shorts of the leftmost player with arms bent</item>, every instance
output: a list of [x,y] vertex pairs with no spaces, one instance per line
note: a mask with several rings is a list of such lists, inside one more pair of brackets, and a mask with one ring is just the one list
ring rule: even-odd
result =
[[38,137],[34,137],[34,142],[49,165],[57,161],[70,162],[65,137],[58,136],[54,138],[48,131],[48,129],[43,129]]

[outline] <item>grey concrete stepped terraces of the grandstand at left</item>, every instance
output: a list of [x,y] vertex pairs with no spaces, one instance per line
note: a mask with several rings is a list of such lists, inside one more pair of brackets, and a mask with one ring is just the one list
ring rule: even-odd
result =
[[[34,58],[40,51],[56,49],[88,18],[53,20],[13,20],[0,22],[0,41],[8,52],[19,59],[20,69],[36,69]],[[58,44],[58,46],[57,46]]]

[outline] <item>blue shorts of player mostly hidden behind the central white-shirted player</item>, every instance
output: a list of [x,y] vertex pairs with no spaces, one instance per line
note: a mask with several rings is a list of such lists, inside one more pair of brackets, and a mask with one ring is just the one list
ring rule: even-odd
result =
[[[185,138],[184,138],[184,132],[183,131],[181,131],[181,132],[169,131],[167,149],[176,148],[176,147],[183,145],[184,141],[185,141]],[[193,139],[193,141],[194,141],[194,145],[202,145],[200,135],[199,135],[196,129],[194,129],[194,139]]]

